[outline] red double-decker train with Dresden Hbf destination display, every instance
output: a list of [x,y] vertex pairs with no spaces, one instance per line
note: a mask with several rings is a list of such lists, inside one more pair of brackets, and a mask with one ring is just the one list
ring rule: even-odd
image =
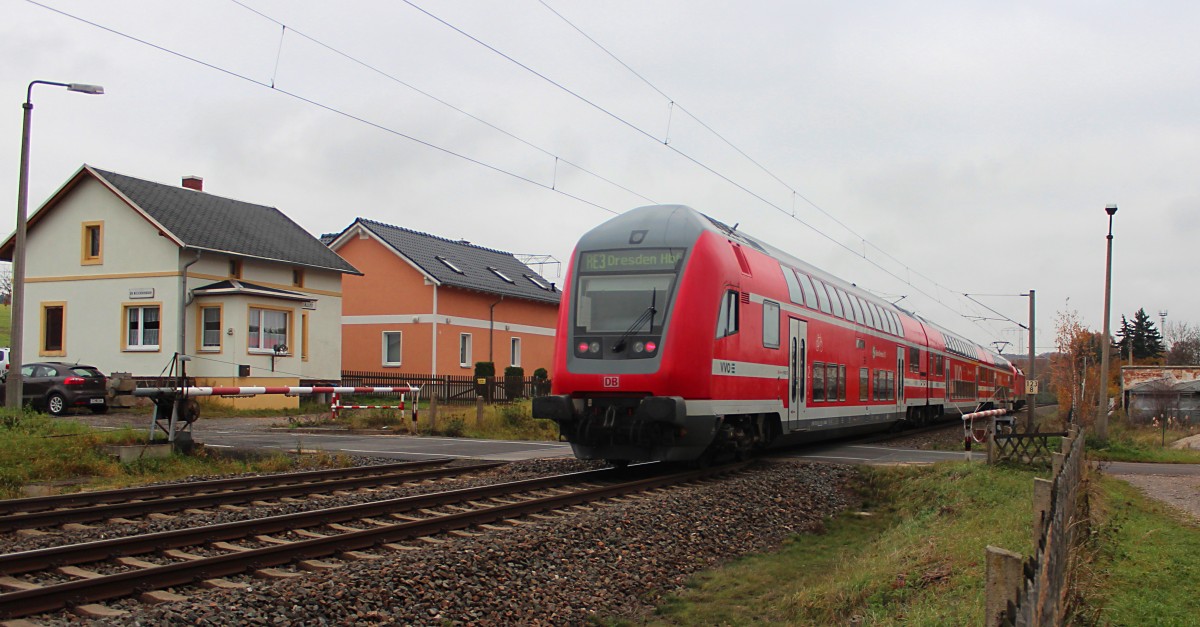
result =
[[553,372],[534,417],[616,464],[1016,410],[1025,387],[995,352],[683,205],[583,235]]

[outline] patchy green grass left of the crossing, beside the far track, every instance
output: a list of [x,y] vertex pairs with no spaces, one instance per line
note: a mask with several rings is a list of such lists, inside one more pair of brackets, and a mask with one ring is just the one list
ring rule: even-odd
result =
[[349,459],[341,455],[296,459],[280,453],[236,460],[204,448],[193,455],[121,464],[103,448],[144,443],[145,438],[140,430],[97,431],[70,419],[0,408],[0,498],[24,496],[22,489],[29,484],[53,484],[59,491],[96,490],[187,477],[349,465]]

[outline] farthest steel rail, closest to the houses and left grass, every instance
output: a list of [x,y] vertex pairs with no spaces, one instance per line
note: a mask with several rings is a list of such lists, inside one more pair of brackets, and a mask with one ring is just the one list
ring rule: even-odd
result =
[[65,507],[82,507],[100,503],[115,503],[120,501],[133,501],[136,498],[162,498],[166,496],[187,495],[197,492],[212,492],[217,490],[235,490],[256,485],[287,485],[314,479],[335,479],[338,477],[361,477],[364,474],[380,474],[388,472],[403,471],[408,468],[424,468],[449,464],[451,460],[432,459],[421,461],[404,461],[401,464],[380,464],[377,466],[355,466],[352,468],[325,468],[302,472],[284,472],[274,474],[258,474],[254,477],[232,477],[228,479],[209,479],[202,482],[172,483],[167,485],[142,485],[137,488],[119,488],[115,490],[94,490],[76,494],[60,494],[53,496],[31,496],[28,498],[8,498],[0,501],[0,514],[16,514],[19,512],[40,512],[42,509],[59,509]]

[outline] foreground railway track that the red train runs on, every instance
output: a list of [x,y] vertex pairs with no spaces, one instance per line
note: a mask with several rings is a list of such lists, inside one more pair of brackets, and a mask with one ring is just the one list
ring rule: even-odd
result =
[[236,585],[220,578],[241,573],[295,577],[276,567],[298,562],[301,568],[325,569],[335,565],[322,557],[378,559],[364,551],[403,550],[397,543],[466,529],[487,532],[500,529],[496,522],[520,524],[521,518],[602,504],[737,472],[750,464],[673,473],[656,472],[656,465],[605,468],[0,555],[0,589],[7,590],[0,593],[0,617],[196,583]]

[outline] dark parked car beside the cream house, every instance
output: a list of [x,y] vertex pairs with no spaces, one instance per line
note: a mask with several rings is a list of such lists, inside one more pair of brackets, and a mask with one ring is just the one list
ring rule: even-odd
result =
[[[0,381],[7,380],[7,372]],[[94,413],[108,411],[106,377],[89,365],[40,362],[20,366],[22,396],[25,404],[62,416],[71,407],[88,407]],[[0,400],[7,390],[0,386]]]

